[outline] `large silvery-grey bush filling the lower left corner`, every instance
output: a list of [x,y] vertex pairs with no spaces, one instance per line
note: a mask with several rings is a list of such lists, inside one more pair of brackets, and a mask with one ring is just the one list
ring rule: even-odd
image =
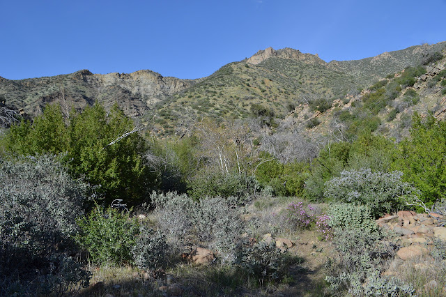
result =
[[77,251],[72,236],[86,186],[51,155],[0,159],[0,183],[0,277],[8,284],[0,295],[74,293],[77,285],[88,286],[91,273],[67,256]]

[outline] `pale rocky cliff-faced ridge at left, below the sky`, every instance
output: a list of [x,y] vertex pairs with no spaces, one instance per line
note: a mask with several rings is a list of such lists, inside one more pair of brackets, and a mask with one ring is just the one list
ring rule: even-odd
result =
[[129,116],[144,114],[155,102],[195,83],[190,79],[162,77],[151,70],[134,73],[93,74],[79,70],[69,75],[10,80],[0,77],[0,96],[8,105],[40,114],[51,102],[82,109],[95,101],[117,102]]

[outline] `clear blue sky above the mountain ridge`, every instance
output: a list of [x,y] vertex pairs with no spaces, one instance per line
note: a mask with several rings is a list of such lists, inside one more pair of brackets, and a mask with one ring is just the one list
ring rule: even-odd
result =
[[353,60],[446,40],[446,0],[0,0],[0,76],[198,78],[258,50]]

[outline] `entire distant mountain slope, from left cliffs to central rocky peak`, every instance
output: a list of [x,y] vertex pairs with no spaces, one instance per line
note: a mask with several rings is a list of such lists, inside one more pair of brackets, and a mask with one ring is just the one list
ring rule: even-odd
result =
[[422,63],[445,47],[446,42],[417,45],[371,58],[329,63],[291,48],[269,47],[194,80],[162,77],[151,70],[107,75],[80,70],[21,80],[0,77],[0,101],[31,115],[40,114],[49,102],[79,109],[95,101],[106,107],[118,102],[129,116],[157,113],[157,125],[170,133],[185,116],[240,119],[251,114],[253,105],[261,105],[283,118],[299,104],[342,100],[379,78]]

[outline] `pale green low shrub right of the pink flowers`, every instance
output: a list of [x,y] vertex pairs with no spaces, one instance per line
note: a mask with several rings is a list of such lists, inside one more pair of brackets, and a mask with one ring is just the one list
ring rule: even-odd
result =
[[332,229],[361,229],[369,233],[378,231],[369,206],[331,204],[328,208],[328,226]]

